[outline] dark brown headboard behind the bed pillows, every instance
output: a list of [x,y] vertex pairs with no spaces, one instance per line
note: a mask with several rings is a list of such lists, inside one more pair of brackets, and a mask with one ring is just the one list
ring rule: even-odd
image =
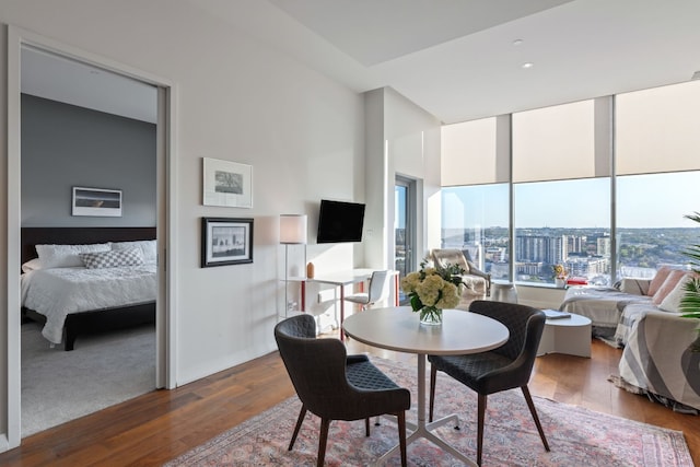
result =
[[155,240],[155,227],[22,227],[21,262],[36,258],[35,245],[81,245]]

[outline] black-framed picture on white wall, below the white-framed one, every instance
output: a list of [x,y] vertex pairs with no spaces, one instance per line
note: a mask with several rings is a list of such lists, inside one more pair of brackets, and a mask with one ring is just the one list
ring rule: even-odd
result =
[[253,262],[253,219],[201,218],[201,267]]

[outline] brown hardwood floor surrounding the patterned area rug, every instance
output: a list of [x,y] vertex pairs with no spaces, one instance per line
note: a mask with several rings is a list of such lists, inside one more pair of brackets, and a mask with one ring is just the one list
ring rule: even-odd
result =
[[[415,362],[415,357],[349,341],[349,352]],[[682,431],[700,466],[700,417],[675,413],[607,382],[620,351],[593,341],[593,358],[537,359],[534,395]],[[35,434],[0,454],[2,466],[155,466],[292,396],[277,352],[174,390],[159,390]],[[291,434],[291,433],[290,433]]]

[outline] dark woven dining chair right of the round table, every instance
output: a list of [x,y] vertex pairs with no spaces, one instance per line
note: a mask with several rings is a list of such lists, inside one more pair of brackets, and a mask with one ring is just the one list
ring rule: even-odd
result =
[[510,332],[509,339],[503,346],[488,352],[469,355],[428,355],[430,361],[429,420],[433,420],[439,371],[474,389],[478,394],[477,464],[480,466],[487,396],[520,387],[545,450],[549,451],[549,444],[527,388],[545,328],[545,313],[530,306],[483,300],[471,302],[469,312],[489,316],[505,325]]

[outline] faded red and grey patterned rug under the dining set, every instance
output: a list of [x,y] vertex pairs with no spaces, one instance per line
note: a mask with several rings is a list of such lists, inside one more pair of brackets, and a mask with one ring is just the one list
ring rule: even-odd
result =
[[[372,361],[397,384],[411,388],[416,418],[416,367],[389,360]],[[597,413],[585,408],[533,397],[551,451],[545,451],[522,392],[489,396],[483,466],[640,466],[691,467],[682,432]],[[307,415],[293,451],[287,451],[301,408],[296,397],[218,435],[166,464],[175,466],[315,466],[319,419]],[[436,433],[476,458],[476,395],[439,373],[435,417],[457,413],[460,430],[445,425]],[[334,421],[328,434],[326,466],[366,466],[398,443],[396,425],[386,420],[372,424],[364,436],[364,422]],[[408,446],[411,466],[462,465],[456,458],[424,440]],[[386,463],[400,465],[398,454]]]

